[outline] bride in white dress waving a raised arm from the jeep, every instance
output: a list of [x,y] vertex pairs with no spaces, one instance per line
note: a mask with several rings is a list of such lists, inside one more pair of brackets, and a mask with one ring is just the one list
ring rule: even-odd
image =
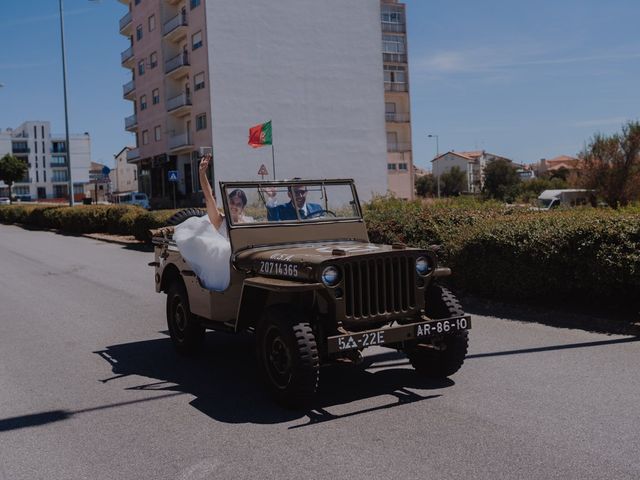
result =
[[[209,290],[223,291],[229,286],[231,245],[227,221],[218,211],[213,191],[207,178],[211,155],[202,157],[199,166],[200,185],[207,205],[207,215],[190,217],[177,225],[173,239],[195,274]],[[242,190],[229,194],[229,212],[233,223],[251,222],[244,215],[247,197]]]

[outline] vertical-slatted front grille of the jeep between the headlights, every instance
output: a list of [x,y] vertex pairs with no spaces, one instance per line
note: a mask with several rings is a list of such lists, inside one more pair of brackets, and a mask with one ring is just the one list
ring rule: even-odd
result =
[[403,313],[416,306],[413,257],[352,262],[344,266],[344,273],[347,317]]

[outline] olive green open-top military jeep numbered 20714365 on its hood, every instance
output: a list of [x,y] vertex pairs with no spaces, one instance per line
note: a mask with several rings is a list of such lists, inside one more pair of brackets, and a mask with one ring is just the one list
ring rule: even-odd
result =
[[[237,189],[247,198],[243,223],[227,203]],[[357,363],[374,345],[405,352],[429,377],[462,366],[471,319],[437,284],[450,270],[434,249],[370,243],[352,180],[221,182],[220,191],[231,243],[226,290],[203,286],[172,227],[154,232],[156,291],[167,294],[179,352],[197,350],[205,329],[255,332],[262,376],[287,406],[309,403],[321,366]],[[204,214],[181,211],[172,223]]]

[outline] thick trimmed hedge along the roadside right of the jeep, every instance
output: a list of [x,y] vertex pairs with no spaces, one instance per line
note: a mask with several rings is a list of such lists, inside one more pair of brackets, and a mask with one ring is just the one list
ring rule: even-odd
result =
[[374,242],[442,245],[451,282],[503,301],[640,306],[640,211],[537,212],[498,204],[380,199],[367,206]]

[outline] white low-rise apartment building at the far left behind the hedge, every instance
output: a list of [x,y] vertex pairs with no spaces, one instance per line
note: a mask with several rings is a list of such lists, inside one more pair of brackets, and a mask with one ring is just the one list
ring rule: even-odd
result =
[[[0,131],[0,157],[7,153],[28,166],[25,177],[13,184],[12,193],[31,200],[68,200],[69,151],[74,198],[82,200],[84,184],[89,181],[91,138],[88,133],[70,134],[67,149],[64,134],[52,134],[50,122],[28,121],[13,129]],[[0,182],[0,196],[9,189]]]

